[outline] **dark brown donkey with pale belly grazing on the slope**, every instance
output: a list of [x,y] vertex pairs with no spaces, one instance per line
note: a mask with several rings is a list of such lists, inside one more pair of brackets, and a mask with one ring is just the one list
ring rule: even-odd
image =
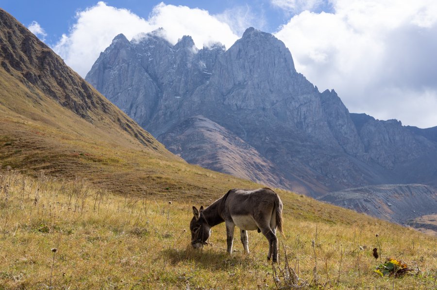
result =
[[207,244],[211,227],[225,222],[228,253],[232,254],[235,226],[240,228],[244,251],[249,253],[248,230],[258,230],[269,240],[270,259],[278,260],[278,239],[276,227],[282,231],[282,201],[278,194],[269,188],[257,190],[231,189],[212,205],[197,210],[193,207],[194,217],[190,223],[191,245],[198,249]]

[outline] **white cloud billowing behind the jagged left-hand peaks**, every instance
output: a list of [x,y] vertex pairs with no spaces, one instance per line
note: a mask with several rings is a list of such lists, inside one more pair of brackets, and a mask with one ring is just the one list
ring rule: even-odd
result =
[[156,5],[148,19],[104,2],[78,12],[76,18],[70,32],[62,35],[53,50],[83,77],[119,33],[132,39],[138,33],[163,27],[170,43],[190,35],[198,48],[216,42],[229,48],[238,39],[227,23],[205,10],[164,3]]

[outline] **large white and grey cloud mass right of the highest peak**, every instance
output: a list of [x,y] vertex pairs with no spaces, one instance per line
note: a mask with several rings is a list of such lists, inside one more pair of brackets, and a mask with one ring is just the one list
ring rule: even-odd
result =
[[332,5],[334,13],[304,11],[275,33],[296,69],[320,89],[335,88],[351,112],[436,126],[437,2]]

